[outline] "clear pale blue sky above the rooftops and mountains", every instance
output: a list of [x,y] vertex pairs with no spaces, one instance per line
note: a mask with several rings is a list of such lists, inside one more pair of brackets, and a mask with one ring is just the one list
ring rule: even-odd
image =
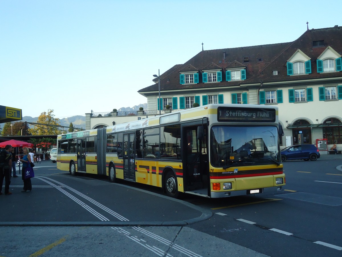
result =
[[147,102],[137,91],[158,69],[185,63],[202,42],[291,42],[306,22],[341,21],[316,0],[0,0],[0,105],[23,117],[52,109],[59,119],[133,107]]

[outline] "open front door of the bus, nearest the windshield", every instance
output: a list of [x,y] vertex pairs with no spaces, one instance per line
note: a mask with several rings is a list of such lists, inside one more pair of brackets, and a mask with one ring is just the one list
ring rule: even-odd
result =
[[184,191],[208,196],[208,155],[206,136],[197,139],[197,125],[183,127]]

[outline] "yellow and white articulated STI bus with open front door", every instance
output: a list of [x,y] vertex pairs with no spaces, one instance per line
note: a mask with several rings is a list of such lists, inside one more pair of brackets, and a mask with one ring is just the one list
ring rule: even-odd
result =
[[210,104],[58,135],[57,168],[220,198],[281,191],[276,106]]

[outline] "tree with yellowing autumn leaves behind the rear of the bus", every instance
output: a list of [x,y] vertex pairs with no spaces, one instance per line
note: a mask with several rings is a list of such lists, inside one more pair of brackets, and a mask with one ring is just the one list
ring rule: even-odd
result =
[[[35,125],[33,129],[29,129],[28,132],[32,135],[58,135],[60,132],[58,131],[58,125],[60,125],[58,118],[53,118],[55,115],[53,114],[53,110],[48,110],[48,113],[42,112],[37,120],[39,125]],[[46,125],[44,125],[46,124]],[[55,126],[51,126],[55,125]],[[57,126],[56,126],[57,125]]]

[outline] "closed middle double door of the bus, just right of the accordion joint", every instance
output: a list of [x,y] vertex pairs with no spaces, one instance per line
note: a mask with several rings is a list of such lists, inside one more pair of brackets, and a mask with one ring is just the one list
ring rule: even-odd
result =
[[123,178],[135,181],[135,133],[123,135]]

